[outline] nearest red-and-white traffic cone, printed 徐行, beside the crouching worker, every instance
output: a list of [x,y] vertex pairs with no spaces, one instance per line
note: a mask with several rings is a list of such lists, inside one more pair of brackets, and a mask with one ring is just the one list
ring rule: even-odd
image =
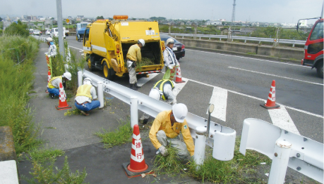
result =
[[140,139],[140,129],[138,124],[134,125],[133,141],[131,145],[131,163],[122,164],[128,175],[128,178],[140,176],[142,173],[152,173],[152,169],[148,164],[145,164],[143,145]]

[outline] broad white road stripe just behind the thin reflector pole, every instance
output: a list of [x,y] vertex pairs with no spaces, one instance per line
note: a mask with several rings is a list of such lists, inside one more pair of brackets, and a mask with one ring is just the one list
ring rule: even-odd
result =
[[214,88],[212,90],[210,104],[214,104],[215,107],[210,115],[222,121],[226,121],[227,90],[224,88]]

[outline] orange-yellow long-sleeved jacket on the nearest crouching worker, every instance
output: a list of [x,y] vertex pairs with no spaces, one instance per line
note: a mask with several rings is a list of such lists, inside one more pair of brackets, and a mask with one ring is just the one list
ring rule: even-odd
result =
[[193,156],[195,152],[195,145],[193,144],[193,138],[191,137],[187,121],[184,119],[183,123],[176,122],[173,124],[173,126],[171,126],[171,112],[172,110],[166,110],[157,114],[157,117],[153,121],[152,128],[150,129],[150,140],[154,147],[158,149],[161,147],[161,144],[159,143],[159,140],[157,140],[157,131],[164,131],[169,138],[175,138],[181,131],[187,150],[190,152],[190,155]]

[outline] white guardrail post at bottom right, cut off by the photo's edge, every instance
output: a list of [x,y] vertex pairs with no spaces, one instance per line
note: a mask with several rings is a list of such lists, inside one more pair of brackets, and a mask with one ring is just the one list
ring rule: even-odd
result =
[[275,155],[272,158],[268,184],[284,183],[292,144],[286,140],[277,140]]

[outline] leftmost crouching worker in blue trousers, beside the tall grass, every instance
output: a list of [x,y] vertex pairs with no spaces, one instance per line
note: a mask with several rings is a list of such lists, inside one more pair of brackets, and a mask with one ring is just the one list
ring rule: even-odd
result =
[[47,91],[49,91],[49,96],[54,99],[55,96],[59,96],[59,84],[61,83],[65,86],[65,82],[71,81],[71,73],[65,72],[62,76],[53,77],[47,84]]

